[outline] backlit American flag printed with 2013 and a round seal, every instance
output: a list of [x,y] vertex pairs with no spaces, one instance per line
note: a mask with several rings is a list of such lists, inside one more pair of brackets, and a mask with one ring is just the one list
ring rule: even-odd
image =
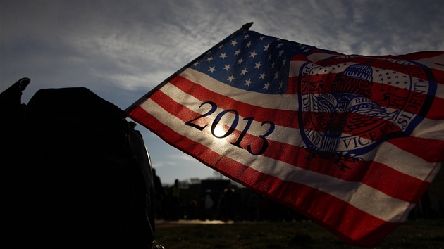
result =
[[241,29],[127,109],[345,241],[405,222],[444,160],[444,52],[357,56]]

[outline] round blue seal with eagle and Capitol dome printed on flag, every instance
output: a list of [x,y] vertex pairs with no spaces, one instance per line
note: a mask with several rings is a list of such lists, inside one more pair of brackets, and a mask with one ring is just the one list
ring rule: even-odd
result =
[[332,60],[300,69],[300,131],[308,158],[331,159],[346,170],[345,161],[363,162],[383,141],[410,135],[436,89],[421,66],[405,60]]

